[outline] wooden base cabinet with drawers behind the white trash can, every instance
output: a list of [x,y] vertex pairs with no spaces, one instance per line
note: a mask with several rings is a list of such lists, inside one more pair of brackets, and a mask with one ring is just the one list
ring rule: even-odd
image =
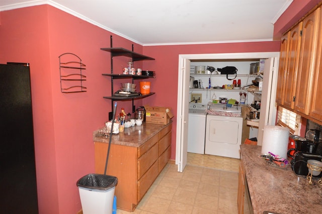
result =
[[[107,174],[118,178],[117,207],[133,211],[171,156],[172,124],[140,147],[111,144]],[[108,144],[95,141],[95,173],[103,174]]]

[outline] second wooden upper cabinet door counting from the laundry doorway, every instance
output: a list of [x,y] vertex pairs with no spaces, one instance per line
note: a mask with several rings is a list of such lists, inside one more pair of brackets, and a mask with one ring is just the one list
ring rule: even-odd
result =
[[287,66],[284,77],[284,96],[283,105],[289,108],[294,108],[294,97],[296,89],[297,69],[299,62],[299,48],[301,44],[300,31],[302,30],[303,23],[299,23],[295,28],[290,31],[289,48],[287,54]]

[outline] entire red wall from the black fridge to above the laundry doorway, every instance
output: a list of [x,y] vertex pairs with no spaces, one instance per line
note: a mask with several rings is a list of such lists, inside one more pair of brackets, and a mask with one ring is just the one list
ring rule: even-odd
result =
[[[39,210],[41,214],[76,213],[81,209],[76,181],[94,172],[92,133],[104,125],[111,102],[110,47],[112,33],[48,5],[0,13],[0,63],[29,62]],[[113,35],[113,47],[131,49],[133,42]],[[135,62],[136,67],[155,70],[151,80],[154,96],[135,101],[173,108],[172,159],[175,159],[177,83],[179,54],[279,51],[277,42],[202,45],[140,46],[134,51],[155,58]],[[60,92],[58,56],[71,52],[86,64],[86,93]],[[121,73],[127,58],[114,58],[114,72]],[[118,102],[118,110],[131,112],[131,102]]]

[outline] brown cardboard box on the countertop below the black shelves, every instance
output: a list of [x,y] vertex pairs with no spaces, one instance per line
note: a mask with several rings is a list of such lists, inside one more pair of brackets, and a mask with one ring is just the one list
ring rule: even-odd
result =
[[168,124],[171,118],[174,117],[171,108],[169,107],[152,107],[144,106],[145,108],[145,122],[154,124]]

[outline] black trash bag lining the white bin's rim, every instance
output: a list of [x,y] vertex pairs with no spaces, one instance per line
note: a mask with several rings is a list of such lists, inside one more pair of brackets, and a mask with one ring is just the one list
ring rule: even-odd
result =
[[88,174],[79,178],[76,185],[98,190],[108,190],[116,186],[118,183],[117,177],[102,174]]

